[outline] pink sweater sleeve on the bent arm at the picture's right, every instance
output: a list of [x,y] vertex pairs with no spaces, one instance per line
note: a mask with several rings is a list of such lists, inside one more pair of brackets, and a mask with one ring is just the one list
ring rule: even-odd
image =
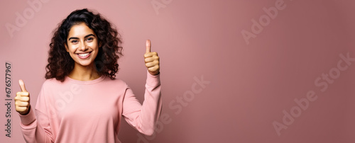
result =
[[142,134],[153,135],[161,108],[160,74],[153,76],[147,70],[143,104],[138,102],[131,88],[127,86],[122,115],[129,125],[136,128]]

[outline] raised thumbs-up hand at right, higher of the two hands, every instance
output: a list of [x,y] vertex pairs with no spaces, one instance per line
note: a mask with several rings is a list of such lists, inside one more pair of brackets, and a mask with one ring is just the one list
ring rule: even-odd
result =
[[159,74],[159,57],[157,52],[151,52],[151,40],[146,41],[146,54],[144,54],[144,62],[148,71],[153,76]]

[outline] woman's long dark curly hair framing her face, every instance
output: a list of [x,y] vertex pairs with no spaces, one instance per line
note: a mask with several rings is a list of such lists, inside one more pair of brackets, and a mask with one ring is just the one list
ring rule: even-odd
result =
[[119,71],[117,59],[122,56],[120,47],[121,35],[117,32],[114,25],[109,23],[99,13],[92,13],[87,8],[72,11],[67,18],[58,24],[58,28],[53,30],[53,38],[50,42],[48,52],[48,64],[45,67],[45,79],[55,78],[64,81],[65,76],[69,75],[74,69],[74,60],[65,50],[67,36],[73,25],[85,23],[97,35],[98,43],[101,45],[97,57],[94,59],[94,67],[100,75],[115,79]]

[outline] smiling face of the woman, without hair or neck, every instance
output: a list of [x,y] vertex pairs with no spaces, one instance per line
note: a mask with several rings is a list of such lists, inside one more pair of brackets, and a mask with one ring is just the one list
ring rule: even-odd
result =
[[73,25],[67,37],[65,49],[75,61],[76,66],[93,66],[99,52],[97,35],[85,23]]

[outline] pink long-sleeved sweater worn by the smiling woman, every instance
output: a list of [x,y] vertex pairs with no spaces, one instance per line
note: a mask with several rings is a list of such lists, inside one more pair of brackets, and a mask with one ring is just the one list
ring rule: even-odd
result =
[[147,71],[143,104],[120,80],[101,76],[92,81],[66,77],[47,79],[38,95],[35,112],[20,115],[26,142],[120,142],[121,117],[145,135],[152,135],[162,101],[160,74]]

